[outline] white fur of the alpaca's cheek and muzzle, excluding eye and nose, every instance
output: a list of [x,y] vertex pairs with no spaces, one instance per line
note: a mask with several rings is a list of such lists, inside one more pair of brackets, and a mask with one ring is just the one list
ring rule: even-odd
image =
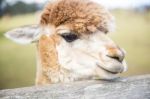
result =
[[[126,65],[106,56],[108,54],[106,45],[108,44],[116,46],[103,33],[94,33],[72,43],[62,39],[61,43],[57,45],[59,63],[63,68],[76,75],[89,77],[96,75],[96,77],[106,79],[115,78],[116,74],[109,73],[97,66],[99,65],[112,72],[125,71]],[[95,74],[97,68],[99,68],[99,72]]]

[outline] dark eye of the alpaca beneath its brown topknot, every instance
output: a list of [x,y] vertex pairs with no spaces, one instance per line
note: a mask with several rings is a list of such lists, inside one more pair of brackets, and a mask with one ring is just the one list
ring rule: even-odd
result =
[[61,35],[61,37],[63,37],[67,42],[73,42],[78,39],[78,36],[73,33],[64,33]]

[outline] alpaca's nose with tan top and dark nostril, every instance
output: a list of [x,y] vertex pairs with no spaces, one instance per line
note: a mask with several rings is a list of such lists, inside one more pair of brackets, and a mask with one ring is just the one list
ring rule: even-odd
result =
[[119,62],[122,62],[125,57],[125,51],[120,47],[108,47],[108,53],[106,56],[109,58],[115,59]]

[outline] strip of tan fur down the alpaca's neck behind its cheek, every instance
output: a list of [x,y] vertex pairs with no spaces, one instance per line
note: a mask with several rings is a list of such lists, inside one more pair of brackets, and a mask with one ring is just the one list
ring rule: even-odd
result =
[[58,56],[56,52],[56,44],[58,44],[59,41],[59,36],[56,35],[52,35],[50,37],[43,35],[40,38],[38,43],[38,51],[42,66],[42,72],[37,78],[37,84],[51,83],[53,79],[49,77],[49,73],[54,75],[58,71],[60,71]]

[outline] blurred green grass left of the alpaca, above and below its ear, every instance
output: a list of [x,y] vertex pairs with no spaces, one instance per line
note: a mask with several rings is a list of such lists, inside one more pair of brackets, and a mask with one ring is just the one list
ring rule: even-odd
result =
[[3,34],[21,25],[36,23],[33,14],[0,19],[0,89],[29,86],[35,78],[35,46],[19,45]]

